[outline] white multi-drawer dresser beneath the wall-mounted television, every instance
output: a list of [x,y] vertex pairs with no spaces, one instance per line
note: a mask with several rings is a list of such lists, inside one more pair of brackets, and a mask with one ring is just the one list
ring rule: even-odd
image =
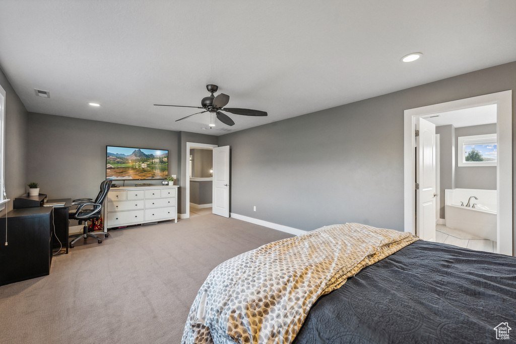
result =
[[111,188],[104,215],[106,229],[172,219],[178,222],[178,186]]

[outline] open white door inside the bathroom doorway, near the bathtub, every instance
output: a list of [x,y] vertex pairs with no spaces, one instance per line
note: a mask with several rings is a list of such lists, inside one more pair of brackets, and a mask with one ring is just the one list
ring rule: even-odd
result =
[[436,241],[436,126],[418,117],[416,129],[416,233],[423,240]]

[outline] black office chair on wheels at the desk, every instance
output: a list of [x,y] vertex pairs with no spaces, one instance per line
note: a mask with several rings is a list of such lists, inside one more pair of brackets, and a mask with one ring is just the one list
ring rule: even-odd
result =
[[74,199],[72,205],[78,205],[77,209],[70,211],[69,218],[76,219],[79,221],[79,225],[82,225],[84,221],[83,234],[76,234],[71,236],[77,236],[70,242],[70,247],[74,247],[74,244],[78,239],[84,238],[86,239],[88,236],[91,236],[98,240],[99,244],[102,243],[102,239],[95,234],[104,234],[104,237],[107,238],[109,234],[104,231],[95,231],[93,233],[88,233],[88,221],[91,221],[94,218],[100,218],[102,216],[102,205],[107,197],[107,193],[111,188],[111,180],[104,180],[100,184],[100,192],[99,195],[92,200],[91,198],[79,198]]

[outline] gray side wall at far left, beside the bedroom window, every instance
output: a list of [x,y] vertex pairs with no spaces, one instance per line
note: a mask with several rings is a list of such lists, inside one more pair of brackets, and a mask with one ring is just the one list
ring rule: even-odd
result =
[[[0,85],[6,92],[5,105],[5,181],[6,210],[12,209],[12,199],[26,192],[27,178],[27,110],[14,92],[4,72],[0,70]],[[28,190],[28,189],[27,189]],[[5,210],[0,212],[0,216]]]

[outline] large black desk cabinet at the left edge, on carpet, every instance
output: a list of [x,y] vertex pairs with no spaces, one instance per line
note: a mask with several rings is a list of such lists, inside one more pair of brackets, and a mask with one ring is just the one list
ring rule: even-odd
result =
[[0,285],[45,276],[52,262],[52,207],[13,209],[0,218]]

